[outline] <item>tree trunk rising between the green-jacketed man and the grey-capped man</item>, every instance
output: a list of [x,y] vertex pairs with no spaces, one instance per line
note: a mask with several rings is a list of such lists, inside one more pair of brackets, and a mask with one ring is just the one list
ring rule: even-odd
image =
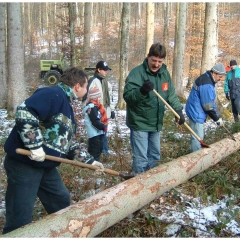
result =
[[185,29],[187,19],[187,3],[179,3],[178,31],[176,34],[175,44],[177,54],[173,67],[173,83],[175,84],[176,93],[179,97],[184,98],[183,78],[184,78],[184,56],[185,56]]

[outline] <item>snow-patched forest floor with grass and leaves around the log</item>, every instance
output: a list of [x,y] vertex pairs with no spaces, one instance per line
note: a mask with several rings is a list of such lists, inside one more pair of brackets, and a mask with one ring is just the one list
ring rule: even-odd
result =
[[[116,90],[116,86],[115,86]],[[117,91],[115,91],[116,93]],[[114,95],[117,100],[117,95]],[[78,120],[78,138],[87,147],[87,137],[81,114],[81,104],[74,105]],[[238,124],[226,122],[234,133]],[[14,125],[7,118],[6,110],[0,110],[0,231],[5,222],[6,174],[3,168],[3,144]],[[205,124],[204,142],[211,144],[228,137],[216,128],[212,120]],[[104,166],[121,172],[131,172],[131,148],[129,129],[125,124],[125,110],[116,111],[116,119],[110,120],[110,156],[103,155]],[[190,153],[190,134],[179,132],[173,114],[167,110],[161,131],[162,163]],[[110,175],[97,176],[94,171],[61,164],[58,168],[71,194],[71,204],[81,201],[121,181]],[[188,182],[164,193],[144,208],[102,232],[97,237],[238,237],[240,235],[240,179],[238,153],[229,156],[211,169],[198,174]],[[225,174],[224,174],[225,173]],[[46,215],[37,199],[33,221]]]

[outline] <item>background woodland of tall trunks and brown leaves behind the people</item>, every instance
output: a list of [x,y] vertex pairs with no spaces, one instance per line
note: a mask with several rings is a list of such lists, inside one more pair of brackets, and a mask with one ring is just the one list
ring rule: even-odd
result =
[[[133,67],[142,63],[153,42],[167,48],[166,65],[176,92],[216,62],[239,58],[239,3],[204,2],[26,2],[1,3],[0,105],[13,115],[39,85],[41,59],[60,59],[68,66],[95,67],[108,62],[122,90]],[[206,47],[206,44],[208,47]],[[173,67],[174,66],[174,67]],[[18,89],[15,88],[18,86]]]

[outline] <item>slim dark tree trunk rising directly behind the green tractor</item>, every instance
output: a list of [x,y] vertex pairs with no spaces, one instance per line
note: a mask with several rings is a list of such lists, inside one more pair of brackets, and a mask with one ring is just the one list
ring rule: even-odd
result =
[[75,3],[68,3],[69,13],[69,30],[70,30],[70,66],[76,66],[76,53],[75,53],[75,33],[74,26],[76,20]]

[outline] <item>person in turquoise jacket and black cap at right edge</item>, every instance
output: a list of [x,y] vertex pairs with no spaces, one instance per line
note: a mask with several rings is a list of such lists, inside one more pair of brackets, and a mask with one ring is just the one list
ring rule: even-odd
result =
[[231,100],[232,114],[235,122],[238,122],[240,114],[240,68],[236,60],[230,61],[231,70],[227,73],[224,81],[224,93]]

